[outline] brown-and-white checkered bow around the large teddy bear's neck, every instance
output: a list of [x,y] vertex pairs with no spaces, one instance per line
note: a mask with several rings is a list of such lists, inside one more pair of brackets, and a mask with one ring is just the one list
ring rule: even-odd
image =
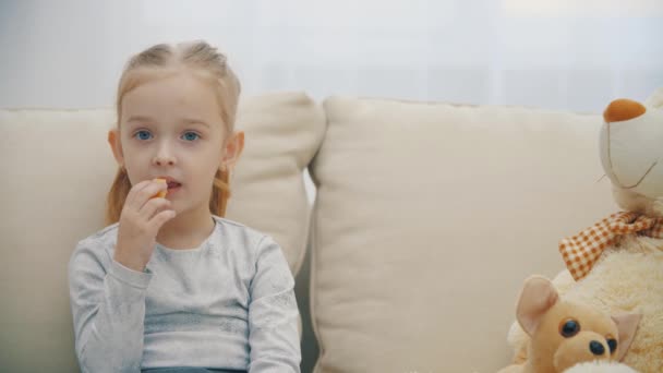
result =
[[638,233],[663,238],[663,218],[620,212],[599,221],[580,233],[559,242],[559,252],[574,279],[587,276],[605,248],[619,236]]

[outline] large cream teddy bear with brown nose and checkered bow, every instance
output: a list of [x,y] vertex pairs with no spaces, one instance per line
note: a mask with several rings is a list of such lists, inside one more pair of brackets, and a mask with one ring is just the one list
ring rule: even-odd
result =
[[[553,280],[565,299],[606,313],[642,315],[624,363],[663,372],[663,88],[646,105],[619,99],[604,111],[601,161],[624,208],[559,243],[567,269]],[[514,323],[514,362],[528,336]]]

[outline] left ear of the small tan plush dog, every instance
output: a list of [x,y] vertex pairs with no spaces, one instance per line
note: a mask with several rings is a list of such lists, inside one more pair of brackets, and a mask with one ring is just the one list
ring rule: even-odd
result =
[[557,290],[547,278],[532,276],[525,280],[516,308],[516,318],[525,333],[532,336],[541,322],[541,317],[558,300]]

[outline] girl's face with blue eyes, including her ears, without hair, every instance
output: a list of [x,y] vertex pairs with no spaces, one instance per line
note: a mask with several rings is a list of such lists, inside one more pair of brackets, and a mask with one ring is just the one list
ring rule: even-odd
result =
[[166,198],[176,213],[209,209],[219,167],[231,167],[243,134],[229,134],[214,87],[181,72],[154,79],[122,97],[120,130],[109,142],[132,185],[169,181]]

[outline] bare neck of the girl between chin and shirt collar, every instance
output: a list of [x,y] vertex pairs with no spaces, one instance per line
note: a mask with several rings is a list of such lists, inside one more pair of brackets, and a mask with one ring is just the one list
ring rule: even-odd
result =
[[167,221],[156,240],[168,249],[194,249],[205,241],[214,230],[214,218],[207,206],[178,214]]

